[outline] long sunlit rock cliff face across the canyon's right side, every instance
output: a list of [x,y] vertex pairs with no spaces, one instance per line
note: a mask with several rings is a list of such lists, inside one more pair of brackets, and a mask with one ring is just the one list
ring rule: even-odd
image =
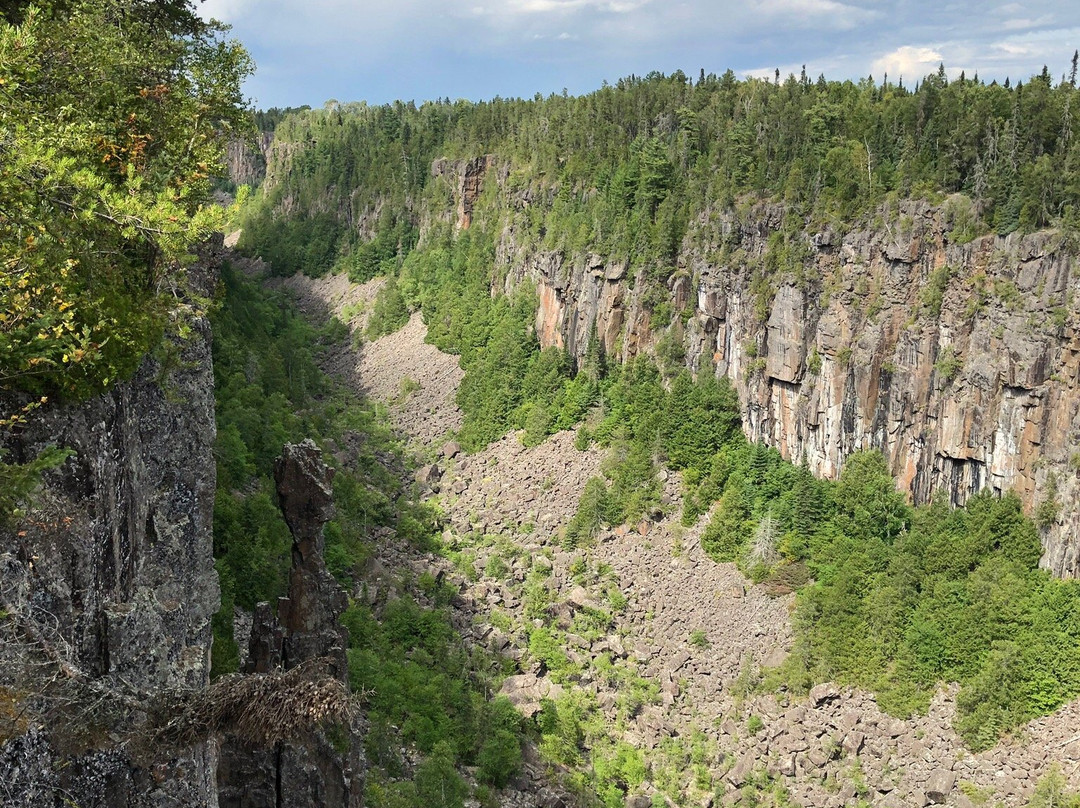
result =
[[1015,490],[1042,527],[1043,565],[1076,577],[1076,259],[1053,232],[957,243],[949,218],[904,202],[843,234],[807,230],[805,260],[762,284],[784,211],[702,217],[666,282],[671,325],[652,322],[624,260],[538,251],[511,220],[497,261],[508,288],[537,285],[544,346],[581,356],[595,324],[625,360],[670,331],[689,367],[734,383],[750,437],[824,476],[880,449],[916,502]]

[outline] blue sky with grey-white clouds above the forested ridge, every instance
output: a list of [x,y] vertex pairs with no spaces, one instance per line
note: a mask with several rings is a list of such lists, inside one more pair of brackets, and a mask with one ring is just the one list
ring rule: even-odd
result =
[[258,108],[486,100],[676,69],[914,84],[1055,80],[1080,48],[1080,0],[204,0],[257,70]]

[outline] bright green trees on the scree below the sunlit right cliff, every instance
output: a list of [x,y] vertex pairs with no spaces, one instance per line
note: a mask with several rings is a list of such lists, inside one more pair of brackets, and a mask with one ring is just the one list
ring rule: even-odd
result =
[[[679,427],[697,418],[696,396],[712,405],[690,435]],[[779,674],[788,686],[848,682],[907,714],[956,681],[957,730],[976,749],[1080,693],[1080,587],[1038,569],[1038,529],[1015,496],[913,509],[874,452],[849,457],[835,483],[814,480],[743,440],[723,386],[676,377],[665,390],[643,362],[615,372],[604,400],[595,434],[616,452],[607,481],[586,486],[568,543],[639,512],[653,456],[681,467],[684,519],[715,502],[705,551],[769,591],[799,593],[795,654]]]

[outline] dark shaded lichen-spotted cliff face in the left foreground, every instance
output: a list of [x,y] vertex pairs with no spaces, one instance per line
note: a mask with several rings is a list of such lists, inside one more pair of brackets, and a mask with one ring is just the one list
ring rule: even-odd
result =
[[[190,270],[216,279],[211,251]],[[0,528],[0,804],[216,806],[216,753],[139,749],[156,696],[204,687],[219,592],[210,326],[167,365],[78,405],[49,405],[6,447],[73,455],[37,508]],[[14,716],[14,717],[13,717]]]

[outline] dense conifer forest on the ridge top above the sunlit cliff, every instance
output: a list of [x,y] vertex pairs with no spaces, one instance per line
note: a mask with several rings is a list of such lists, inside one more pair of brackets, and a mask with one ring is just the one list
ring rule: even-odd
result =
[[[592,250],[661,274],[674,269],[694,217],[747,197],[782,201],[797,229],[843,229],[889,199],[951,193],[970,200],[956,210],[961,240],[1071,229],[1076,64],[1061,79],[1044,68],[1015,84],[949,81],[943,69],[914,86],[650,73],[580,97],[332,102],[269,115],[264,125],[274,126],[287,169],[269,177],[269,210],[248,219],[244,238],[268,259],[363,278],[378,266],[373,253],[407,247],[401,228],[438,201],[432,161],[486,153],[509,166],[509,189],[545,247]],[[274,217],[283,200],[294,215]]]

